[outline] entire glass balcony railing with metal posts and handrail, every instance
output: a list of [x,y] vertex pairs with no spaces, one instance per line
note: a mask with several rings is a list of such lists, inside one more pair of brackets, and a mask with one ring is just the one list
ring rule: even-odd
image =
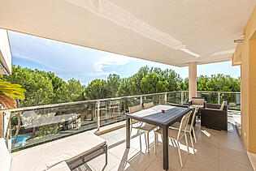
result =
[[[228,100],[228,109],[240,109],[239,92],[197,92],[209,103]],[[153,101],[158,104],[189,102],[188,92],[163,92],[138,96],[122,96],[108,99],[85,100],[55,105],[41,105],[18,109],[0,110],[4,114],[4,137],[8,148],[15,152],[41,143],[75,135],[85,130],[100,130],[115,122],[121,122],[128,107]],[[16,142],[13,143],[15,137]]]

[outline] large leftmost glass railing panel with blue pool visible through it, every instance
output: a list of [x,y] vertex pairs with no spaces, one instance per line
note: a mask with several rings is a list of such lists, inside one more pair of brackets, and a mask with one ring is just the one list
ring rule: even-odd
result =
[[95,129],[98,124],[94,110],[95,104],[91,103],[12,112],[8,137],[11,149],[15,152]]

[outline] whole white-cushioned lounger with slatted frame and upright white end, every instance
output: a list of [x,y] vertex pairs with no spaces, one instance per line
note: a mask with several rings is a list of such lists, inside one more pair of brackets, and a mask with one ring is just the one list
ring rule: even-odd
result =
[[1,171],[70,171],[102,154],[106,154],[107,164],[106,140],[88,132],[11,154],[5,140],[0,139]]

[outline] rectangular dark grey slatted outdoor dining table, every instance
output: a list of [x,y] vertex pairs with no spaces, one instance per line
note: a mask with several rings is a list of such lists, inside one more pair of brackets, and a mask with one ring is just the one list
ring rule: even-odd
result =
[[149,109],[142,109],[135,113],[126,113],[126,147],[130,147],[130,124],[131,119],[149,123],[163,129],[163,169],[169,169],[168,163],[168,129],[173,123],[189,113],[191,109],[171,105],[155,105]]

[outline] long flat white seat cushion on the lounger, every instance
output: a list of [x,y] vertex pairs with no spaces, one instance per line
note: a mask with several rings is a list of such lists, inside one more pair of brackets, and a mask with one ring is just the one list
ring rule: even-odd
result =
[[67,138],[11,153],[11,170],[34,171],[50,169],[62,161],[92,152],[106,144],[106,140],[92,133],[81,133]]

